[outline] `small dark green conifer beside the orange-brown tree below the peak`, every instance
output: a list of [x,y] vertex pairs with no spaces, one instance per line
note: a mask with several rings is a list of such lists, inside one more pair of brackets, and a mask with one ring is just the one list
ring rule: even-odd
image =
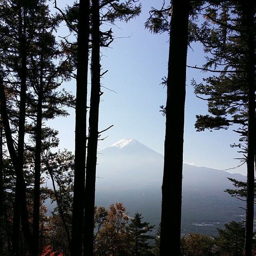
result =
[[148,240],[154,239],[154,236],[148,234],[152,232],[153,226],[149,222],[142,222],[142,216],[138,212],[134,215],[127,230],[130,236],[131,252],[134,256],[152,255],[152,246],[148,244]]

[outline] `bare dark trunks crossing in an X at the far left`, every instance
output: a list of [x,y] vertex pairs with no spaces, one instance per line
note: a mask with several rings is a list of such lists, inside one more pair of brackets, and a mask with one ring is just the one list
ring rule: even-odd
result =
[[[23,175],[24,163],[24,136],[25,136],[25,114],[26,114],[26,22],[25,10],[22,16],[20,7],[20,28],[19,28],[19,44],[20,44],[20,57],[21,68],[18,71],[20,77],[20,113],[18,121],[18,150],[17,154],[14,149],[14,142],[10,130],[8,111],[6,107],[6,96],[4,92],[4,84],[2,78],[0,79],[0,102],[1,102],[1,116],[6,135],[6,142],[8,151],[16,172],[16,188],[14,196],[14,214],[13,214],[13,228],[12,228],[12,254],[19,255],[19,236],[20,236],[20,220],[22,223],[22,230],[28,244],[30,254],[33,255],[34,243],[30,233],[28,210],[26,206],[26,183]],[[22,21],[23,20],[23,21]]]

